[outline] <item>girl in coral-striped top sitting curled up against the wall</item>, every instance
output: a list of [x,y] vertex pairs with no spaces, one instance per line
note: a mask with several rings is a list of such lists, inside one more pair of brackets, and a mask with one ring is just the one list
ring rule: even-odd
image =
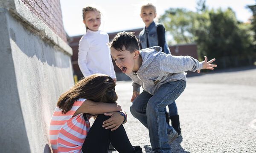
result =
[[[122,126],[127,117],[116,103],[115,85],[111,77],[93,74],[60,96],[49,131],[54,153],[108,153],[110,142],[119,153],[142,153]],[[90,127],[89,116],[96,114]]]

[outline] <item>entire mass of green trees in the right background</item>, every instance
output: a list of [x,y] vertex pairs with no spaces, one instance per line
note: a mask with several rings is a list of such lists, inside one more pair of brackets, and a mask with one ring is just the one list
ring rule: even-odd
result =
[[251,24],[240,23],[231,8],[209,10],[204,3],[201,0],[200,8],[204,9],[198,9],[198,12],[170,8],[160,17],[174,42],[195,42],[199,59],[204,59],[204,55],[218,58],[223,67],[238,66],[247,57],[255,57],[254,32],[249,30]]

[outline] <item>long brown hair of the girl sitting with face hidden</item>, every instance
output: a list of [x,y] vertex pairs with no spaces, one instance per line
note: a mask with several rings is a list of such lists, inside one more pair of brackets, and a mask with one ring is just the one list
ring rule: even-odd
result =
[[93,74],[81,79],[69,91],[60,96],[57,106],[62,113],[67,113],[79,98],[90,99],[94,102],[114,103],[117,100],[116,83],[104,74]]

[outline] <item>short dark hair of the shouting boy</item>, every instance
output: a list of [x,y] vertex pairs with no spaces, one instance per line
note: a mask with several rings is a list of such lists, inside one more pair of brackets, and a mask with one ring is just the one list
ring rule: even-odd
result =
[[[122,31],[116,34],[114,39],[108,44],[111,48],[115,48],[118,51],[130,51],[133,53],[135,50],[140,50],[138,39],[134,32]],[[125,48],[123,48],[125,47]]]

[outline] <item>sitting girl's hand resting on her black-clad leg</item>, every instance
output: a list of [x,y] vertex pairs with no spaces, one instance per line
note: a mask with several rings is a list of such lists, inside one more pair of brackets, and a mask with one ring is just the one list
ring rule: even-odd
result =
[[104,113],[104,115],[111,116],[111,118],[105,120],[102,127],[105,127],[105,129],[111,129],[111,131],[116,130],[125,119],[120,112]]

